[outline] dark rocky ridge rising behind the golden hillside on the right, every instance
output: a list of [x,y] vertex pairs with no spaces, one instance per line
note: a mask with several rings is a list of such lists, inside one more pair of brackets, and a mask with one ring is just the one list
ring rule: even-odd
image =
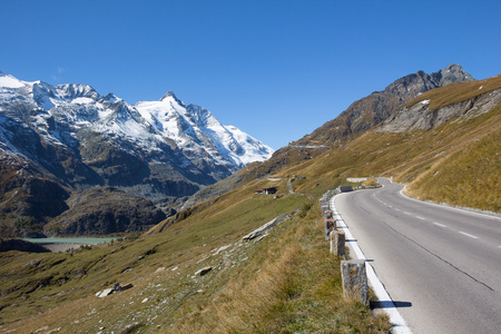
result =
[[[431,89],[469,81],[474,81],[472,76],[455,63],[431,75],[418,71],[400,78],[383,91],[375,91],[353,102],[340,116],[327,121],[312,134],[278,149],[268,160],[252,164],[230,177],[199,190],[185,203],[184,208],[224,194],[245,181],[265,177],[298,161],[314,158],[325,153],[325,148],[340,147],[381,124],[404,107],[405,104]],[[318,148],[321,146],[325,146],[325,148]]]

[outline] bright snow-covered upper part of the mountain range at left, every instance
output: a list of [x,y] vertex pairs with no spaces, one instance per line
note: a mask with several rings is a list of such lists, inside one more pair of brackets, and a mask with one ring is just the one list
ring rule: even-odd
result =
[[[43,135],[50,141],[60,141],[61,136],[68,135],[78,140],[77,132],[81,129],[116,134],[146,150],[158,150],[166,141],[174,140],[188,159],[206,156],[230,171],[273,154],[271,147],[236,127],[223,126],[205,108],[186,106],[171,91],[158,101],[130,106],[112,94],[100,96],[87,85],[27,82],[0,72],[0,110],[20,100],[38,110],[31,120],[46,129]],[[47,131],[51,117],[70,131]]]

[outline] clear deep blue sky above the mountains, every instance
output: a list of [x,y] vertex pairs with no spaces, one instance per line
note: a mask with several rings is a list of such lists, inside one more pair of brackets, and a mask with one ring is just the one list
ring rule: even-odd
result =
[[455,62],[501,72],[501,1],[0,0],[0,71],[129,104],[168,90],[278,149]]

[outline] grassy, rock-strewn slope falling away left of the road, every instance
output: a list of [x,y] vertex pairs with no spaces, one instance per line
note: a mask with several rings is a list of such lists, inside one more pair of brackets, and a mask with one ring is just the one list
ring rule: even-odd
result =
[[[387,332],[385,316],[342,297],[340,259],[328,254],[314,198],[336,179],[313,186],[308,196],[287,194],[285,183],[254,181],[134,242],[72,256],[3,254],[1,331],[119,333],[135,325],[138,333]],[[273,184],[279,198],[253,195]],[[302,212],[264,239],[242,240],[296,208]],[[213,271],[195,274],[206,266]],[[134,287],[94,295],[115,282]]]

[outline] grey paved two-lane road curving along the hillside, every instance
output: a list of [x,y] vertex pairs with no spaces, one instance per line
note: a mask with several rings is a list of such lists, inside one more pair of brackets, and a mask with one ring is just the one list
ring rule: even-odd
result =
[[501,333],[501,218],[380,181],[335,205],[413,333]]

